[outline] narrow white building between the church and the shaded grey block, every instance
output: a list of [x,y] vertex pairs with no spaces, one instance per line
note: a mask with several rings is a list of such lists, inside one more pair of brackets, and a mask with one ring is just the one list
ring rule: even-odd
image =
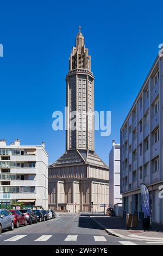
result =
[[117,216],[122,216],[122,195],[120,193],[120,144],[112,141],[109,153],[109,207]]

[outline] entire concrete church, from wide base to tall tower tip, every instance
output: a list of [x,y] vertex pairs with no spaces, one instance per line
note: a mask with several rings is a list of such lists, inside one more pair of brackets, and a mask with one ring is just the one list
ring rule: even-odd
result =
[[94,149],[94,78],[79,27],[66,76],[66,152],[48,170],[49,206],[54,210],[90,211],[93,202],[93,210],[99,211],[100,204],[108,204],[108,166]]

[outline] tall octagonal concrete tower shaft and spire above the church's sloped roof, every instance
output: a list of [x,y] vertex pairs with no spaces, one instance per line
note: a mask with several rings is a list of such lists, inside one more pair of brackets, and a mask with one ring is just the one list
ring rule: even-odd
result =
[[[72,48],[69,58],[67,83],[67,132],[66,150],[83,149],[94,151],[94,76],[91,72],[91,56],[84,45],[84,36],[76,36],[76,46]],[[76,130],[71,113],[76,112]]]

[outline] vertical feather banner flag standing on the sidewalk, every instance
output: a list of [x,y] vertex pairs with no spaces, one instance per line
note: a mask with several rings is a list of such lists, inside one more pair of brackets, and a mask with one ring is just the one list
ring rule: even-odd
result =
[[145,215],[151,216],[148,187],[145,184],[141,183],[140,188],[141,188],[141,207],[142,207],[142,211]]

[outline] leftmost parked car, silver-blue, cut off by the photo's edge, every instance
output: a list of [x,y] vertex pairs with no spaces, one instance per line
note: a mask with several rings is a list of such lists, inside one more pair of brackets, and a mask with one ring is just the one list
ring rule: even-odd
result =
[[8,210],[0,209],[0,234],[7,228],[14,230],[14,216]]

